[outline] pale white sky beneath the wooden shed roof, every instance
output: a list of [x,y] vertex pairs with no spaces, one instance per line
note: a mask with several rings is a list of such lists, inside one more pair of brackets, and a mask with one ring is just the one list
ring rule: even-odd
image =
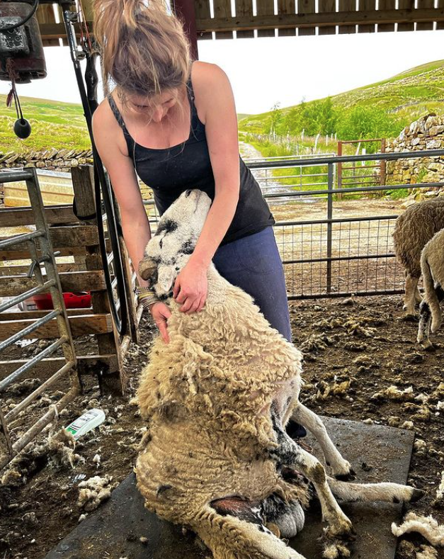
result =
[[[227,73],[238,113],[269,111],[372,84],[444,59],[444,30],[312,37],[204,40],[199,59]],[[18,86],[22,96],[80,103],[67,47],[45,48],[47,77]],[[0,94],[9,84],[0,81]],[[25,106],[23,107],[25,112]]]

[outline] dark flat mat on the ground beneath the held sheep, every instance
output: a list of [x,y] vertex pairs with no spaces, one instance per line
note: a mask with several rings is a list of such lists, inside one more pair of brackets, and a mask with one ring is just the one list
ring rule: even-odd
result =
[[[360,481],[406,482],[414,441],[411,431],[341,419],[325,418],[325,422]],[[319,448],[315,453],[321,456]],[[363,463],[372,469],[363,469]],[[353,558],[394,558],[396,539],[390,524],[400,519],[401,505],[348,504],[343,509],[358,532]],[[321,559],[317,540],[322,528],[320,512],[313,507],[307,513],[304,530],[291,541],[291,546],[307,559]],[[146,545],[140,542],[141,536],[147,538]],[[108,503],[81,522],[45,559],[205,559],[208,555],[193,534],[184,535],[179,526],[161,521],[144,509],[132,473]]]

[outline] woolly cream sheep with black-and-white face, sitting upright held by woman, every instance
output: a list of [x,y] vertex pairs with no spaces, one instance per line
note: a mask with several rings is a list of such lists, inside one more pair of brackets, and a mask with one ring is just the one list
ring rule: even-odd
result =
[[303,559],[275,535],[289,538],[302,529],[309,501],[303,476],[317,492],[330,538],[352,530],[334,495],[399,502],[421,492],[331,478],[288,436],[291,418],[316,436],[337,478],[352,475],[319,417],[298,400],[300,351],[215,266],[208,270],[203,310],[179,311],[173,282],[209,208],[205,193],[183,193],[162,216],[140,263],[141,276],[172,315],[169,344],[155,339],[137,393],[149,427],[137,485],[149,510],[193,529],[215,559]]

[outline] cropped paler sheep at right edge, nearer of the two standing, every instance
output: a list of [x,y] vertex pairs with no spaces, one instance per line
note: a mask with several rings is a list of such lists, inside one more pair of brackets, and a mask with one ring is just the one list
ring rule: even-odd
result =
[[[440,301],[444,299],[444,229],[440,230],[423,248],[421,253],[421,271],[423,274],[424,299],[419,305],[418,341],[427,336],[427,346],[431,346],[429,339],[430,326],[436,332],[443,323]],[[430,324],[431,323],[431,324]]]

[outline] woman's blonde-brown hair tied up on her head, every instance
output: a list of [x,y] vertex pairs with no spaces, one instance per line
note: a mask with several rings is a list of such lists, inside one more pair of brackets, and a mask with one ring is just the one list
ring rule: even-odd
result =
[[127,94],[150,98],[166,90],[178,98],[190,74],[190,45],[164,0],[95,0],[94,35],[105,95],[112,79],[123,103]]

